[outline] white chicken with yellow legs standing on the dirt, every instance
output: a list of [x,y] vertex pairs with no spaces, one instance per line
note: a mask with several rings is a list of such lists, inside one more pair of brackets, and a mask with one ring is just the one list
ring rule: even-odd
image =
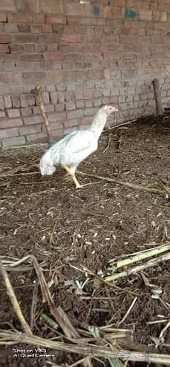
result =
[[118,112],[118,108],[111,105],[101,107],[89,129],[71,132],[52,145],[40,159],[41,175],[52,175],[56,165],[61,165],[71,175],[76,188],[83,186],[77,181],[75,171],[78,165],[98,148],[98,139],[107,117],[113,112]]

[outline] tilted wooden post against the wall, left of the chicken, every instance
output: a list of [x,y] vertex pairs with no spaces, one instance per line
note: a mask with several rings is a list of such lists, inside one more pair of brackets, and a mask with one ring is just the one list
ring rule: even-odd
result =
[[44,106],[44,103],[43,103],[43,100],[42,100],[42,94],[41,94],[42,93],[42,86],[35,86],[35,89],[33,89],[32,93],[35,96],[37,104],[40,106],[40,112],[41,112],[41,115],[42,115],[43,120],[45,122],[45,128],[46,128],[46,132],[47,132],[48,141],[52,142],[53,141],[52,132],[51,132],[50,124],[49,124],[49,121],[47,119],[47,115],[46,115],[46,112],[45,112],[45,106]]

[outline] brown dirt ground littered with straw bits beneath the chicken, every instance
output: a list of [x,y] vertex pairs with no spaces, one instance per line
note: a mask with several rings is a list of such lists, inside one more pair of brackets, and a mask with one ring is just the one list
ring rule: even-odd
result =
[[[106,276],[111,274],[109,260],[169,240],[169,199],[81,175],[77,175],[79,182],[89,185],[75,190],[73,182],[64,180],[60,168],[51,177],[41,177],[38,164],[44,149],[45,146],[35,146],[1,151],[1,255],[18,259],[34,255],[50,285],[55,305],[63,308],[76,327],[85,322],[118,328],[135,298],[125,290],[137,293],[134,307],[119,328],[133,330],[135,341],[152,346],[155,353],[170,354],[170,328],[164,332],[164,343],[158,349],[153,339],[159,337],[166,322],[147,324],[169,319],[168,262],[145,270],[149,282],[162,289],[159,299],[151,298],[140,274],[115,282],[122,291],[110,289],[112,303],[108,302],[105,286],[93,276],[84,286],[83,295],[75,291],[75,281],[86,280],[86,274],[79,271],[82,265]],[[169,149],[170,117],[164,121],[158,117],[143,118],[103,132],[98,151],[81,163],[79,170],[143,186],[162,188],[163,182],[169,187]],[[9,276],[30,324],[37,276],[33,269],[11,271]],[[0,297],[1,328],[21,330],[2,281]],[[42,310],[50,315],[38,287],[33,332],[46,339],[56,337],[55,331],[40,318]],[[16,358],[14,347],[28,349],[26,345],[1,348],[1,366],[46,367],[52,366],[52,361],[67,366],[64,363],[69,365],[81,358],[54,351],[51,353],[55,356],[50,357]],[[103,366],[102,362],[95,363],[94,366]]]

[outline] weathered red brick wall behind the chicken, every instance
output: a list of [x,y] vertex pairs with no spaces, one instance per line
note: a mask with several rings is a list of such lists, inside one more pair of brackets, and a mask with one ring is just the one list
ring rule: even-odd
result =
[[46,139],[30,91],[40,83],[54,136],[115,103],[112,123],[155,112],[152,78],[170,102],[170,1],[0,1],[0,145]]

